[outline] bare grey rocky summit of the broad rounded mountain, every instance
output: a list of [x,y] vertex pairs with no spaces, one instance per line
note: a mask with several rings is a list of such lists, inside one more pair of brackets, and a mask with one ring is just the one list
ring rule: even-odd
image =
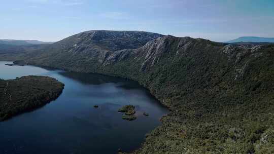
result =
[[52,48],[73,53],[137,49],[160,36],[162,35],[144,31],[91,30],[67,37],[52,45]]

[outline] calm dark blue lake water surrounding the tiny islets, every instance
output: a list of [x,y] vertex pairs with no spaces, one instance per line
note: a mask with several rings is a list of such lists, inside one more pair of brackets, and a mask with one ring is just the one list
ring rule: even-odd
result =
[[[0,153],[117,153],[141,146],[145,134],[161,125],[166,108],[138,83],[99,74],[35,66],[7,66],[0,78],[51,76],[65,84],[60,97],[31,112],[0,122]],[[99,105],[94,108],[94,105]],[[117,109],[132,104],[135,121]],[[144,117],[143,112],[149,113]]]

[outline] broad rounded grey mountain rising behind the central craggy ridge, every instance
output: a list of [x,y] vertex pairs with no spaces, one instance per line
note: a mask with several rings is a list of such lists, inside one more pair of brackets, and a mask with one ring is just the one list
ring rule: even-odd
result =
[[41,50],[26,52],[21,58],[24,64],[68,67],[74,71],[88,72],[91,65],[95,68],[123,60],[133,49],[161,36],[145,31],[91,30],[67,37]]

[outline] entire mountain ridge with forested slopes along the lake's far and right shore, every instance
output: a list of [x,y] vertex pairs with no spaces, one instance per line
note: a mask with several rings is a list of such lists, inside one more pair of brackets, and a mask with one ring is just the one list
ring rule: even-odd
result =
[[87,31],[19,56],[0,56],[7,59],[120,76],[149,89],[170,113],[133,153],[274,150],[274,44]]

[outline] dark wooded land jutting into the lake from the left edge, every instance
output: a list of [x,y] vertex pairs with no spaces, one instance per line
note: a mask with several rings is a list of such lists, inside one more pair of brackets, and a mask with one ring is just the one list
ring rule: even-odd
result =
[[55,100],[63,89],[64,84],[47,76],[0,80],[0,121]]

